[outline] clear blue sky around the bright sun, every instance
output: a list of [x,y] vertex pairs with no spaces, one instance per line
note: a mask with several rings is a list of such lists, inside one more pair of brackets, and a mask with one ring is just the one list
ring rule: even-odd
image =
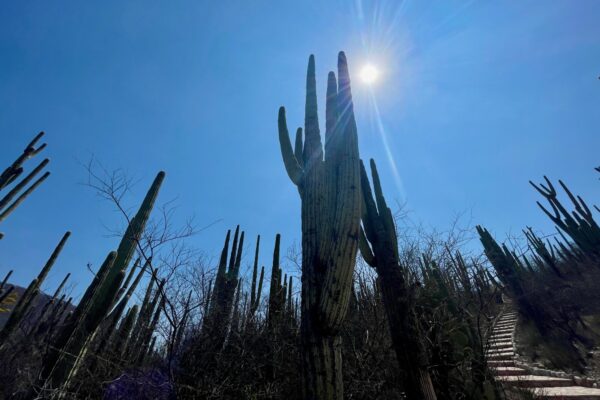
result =
[[176,198],[199,225],[222,219],[194,245],[216,254],[239,223],[263,235],[268,264],[276,232],[284,247],[300,238],[277,109],[303,122],[314,53],[323,113],[339,50],[353,73],[382,71],[371,94],[357,79],[353,92],[361,155],[378,161],[388,198],[440,229],[469,211],[500,238],[550,231],[528,179],[600,199],[599,19],[600,2],[584,0],[7,2],[0,160],[45,130],[52,176],[2,225],[0,275],[14,268],[26,284],[72,230],[46,287],[68,271],[87,285],[118,221],[79,185],[92,154],[139,179],[129,205],[164,169],[161,202]]

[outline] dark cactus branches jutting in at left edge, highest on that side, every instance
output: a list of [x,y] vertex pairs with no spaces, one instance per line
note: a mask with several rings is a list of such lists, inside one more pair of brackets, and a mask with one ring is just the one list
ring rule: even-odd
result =
[[[2,174],[0,174],[0,192],[2,192],[4,189],[7,189],[12,183],[16,182],[16,180],[23,174],[23,164],[25,161],[44,150],[46,147],[45,143],[40,145],[38,148],[35,147],[36,143],[43,135],[44,132],[38,133],[36,137],[34,137],[33,140],[27,145],[27,147],[25,147],[23,153],[19,155],[19,157],[17,157],[17,159],[13,161],[13,163],[8,166],[2,172]],[[40,171],[42,171],[46,165],[48,165],[49,162],[50,160],[47,158],[44,159],[38,164],[37,167],[33,169],[33,171],[21,179],[21,181],[15,184],[7,194],[0,198],[0,222],[4,221],[23,201],[25,201],[27,196],[29,196],[39,185],[42,184],[42,182],[46,180],[46,178],[48,178],[50,172],[46,171],[34,183],[27,187],[29,182],[31,182],[40,173]],[[0,239],[2,239],[3,236],[4,234],[0,233]]]

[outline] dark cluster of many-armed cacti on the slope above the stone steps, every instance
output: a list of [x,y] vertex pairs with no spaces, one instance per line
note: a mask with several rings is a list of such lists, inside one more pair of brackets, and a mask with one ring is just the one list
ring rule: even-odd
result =
[[[507,294],[516,300],[523,318],[533,323],[550,346],[566,349],[571,366],[580,368],[583,359],[577,355],[574,344],[590,344],[581,313],[597,298],[596,290],[584,282],[593,279],[591,266],[600,257],[600,227],[580,196],[573,195],[559,181],[574,207],[568,210],[559,200],[552,182],[547,177],[544,179],[545,183],[536,185],[530,181],[530,184],[548,202],[550,210],[540,202],[537,204],[557,228],[558,236],[552,235],[554,242],[544,241],[528,227],[523,231],[527,251],[517,254],[506,244],[498,244],[486,229],[477,227],[477,230],[487,258]],[[576,293],[575,287],[581,289]]]

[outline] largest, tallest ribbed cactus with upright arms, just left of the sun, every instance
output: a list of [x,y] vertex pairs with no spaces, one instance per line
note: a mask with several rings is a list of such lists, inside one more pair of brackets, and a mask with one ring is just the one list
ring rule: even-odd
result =
[[325,154],[319,132],[315,60],[306,82],[304,140],[289,138],[279,109],[279,143],[286,171],[302,201],[302,321],[307,399],[341,399],[340,328],[350,299],[360,226],[358,136],[348,64],[338,56],[338,79],[327,81]]

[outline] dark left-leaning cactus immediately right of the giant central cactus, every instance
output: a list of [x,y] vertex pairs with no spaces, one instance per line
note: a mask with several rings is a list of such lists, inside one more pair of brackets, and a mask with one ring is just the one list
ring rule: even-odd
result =
[[371,160],[375,197],[361,162],[361,189],[364,207],[360,232],[360,251],[365,261],[377,271],[383,304],[396,357],[402,371],[401,380],[409,399],[436,399],[429,360],[419,320],[414,310],[414,295],[409,287],[407,269],[400,264],[398,238],[392,211],[387,206],[375,161]]

